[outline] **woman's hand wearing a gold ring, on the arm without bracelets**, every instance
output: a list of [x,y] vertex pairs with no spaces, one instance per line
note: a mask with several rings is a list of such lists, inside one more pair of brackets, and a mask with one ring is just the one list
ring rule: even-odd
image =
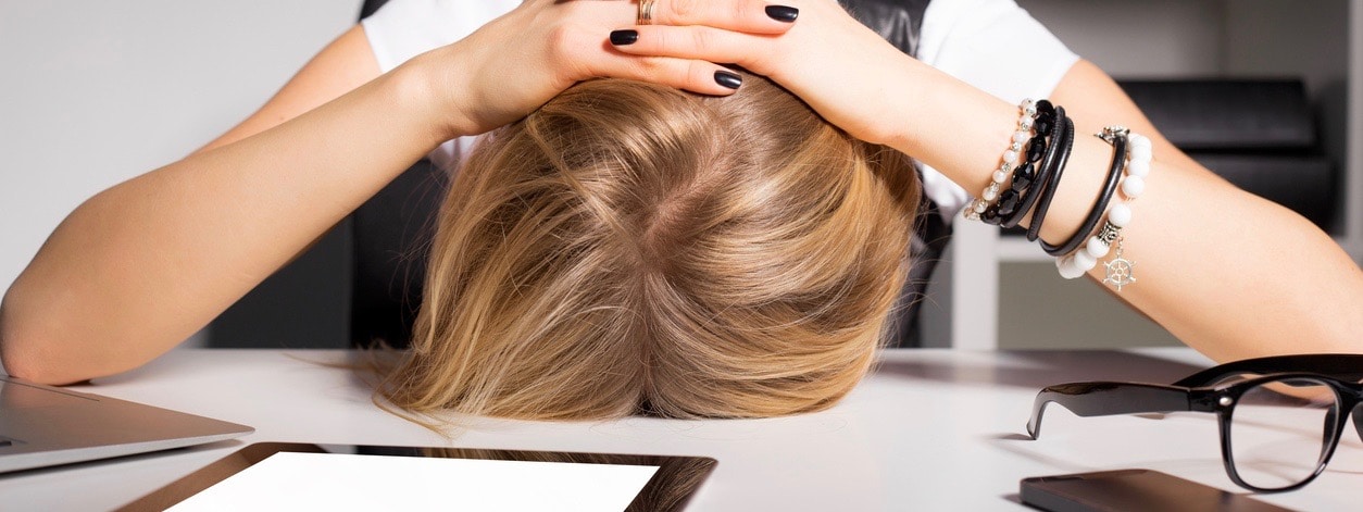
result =
[[[767,15],[766,7],[761,0],[660,0],[654,16],[748,37],[791,29],[791,22]],[[592,78],[647,80],[714,95],[733,91],[722,83],[729,72],[711,61],[631,56],[616,49],[608,34],[634,25],[637,14],[635,1],[526,0],[469,37],[406,65],[424,69],[425,93],[435,101],[435,112],[444,116],[438,123],[447,138],[515,121]]]

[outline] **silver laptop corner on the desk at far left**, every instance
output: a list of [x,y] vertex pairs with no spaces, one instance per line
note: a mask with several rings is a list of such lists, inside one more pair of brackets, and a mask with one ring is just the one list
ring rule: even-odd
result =
[[255,429],[0,376],[0,473],[191,447]]

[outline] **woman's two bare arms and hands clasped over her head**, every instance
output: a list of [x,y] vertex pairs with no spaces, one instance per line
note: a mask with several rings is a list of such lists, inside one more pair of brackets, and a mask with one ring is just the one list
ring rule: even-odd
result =
[[[1000,4],[1015,8],[934,4],[930,10],[969,12],[961,19]],[[200,153],[74,212],[7,294],[0,310],[7,369],[70,383],[146,362],[408,163],[447,140],[521,118],[589,78],[725,95],[737,83],[714,63],[735,63],[852,136],[912,155],[972,193],[991,182],[1018,125],[1017,105],[905,56],[831,1],[650,5],[652,25],[638,25],[639,7],[630,3],[526,1],[382,75],[363,29],[352,30]],[[935,49],[940,60],[961,50]],[[1025,61],[1026,53],[1013,57]],[[1359,350],[1352,331],[1363,325],[1363,308],[1352,304],[1363,297],[1363,275],[1328,236],[1180,154],[1092,64],[1065,68],[1054,91],[1033,97],[1063,105],[1079,133],[1124,124],[1153,140],[1149,187],[1131,204],[1137,222],[1122,234],[1124,256],[1141,271],[1123,300],[1216,359]],[[1111,158],[1103,140],[1074,139],[1041,240],[1060,244],[1084,227]],[[134,237],[140,242],[123,242]],[[1262,271],[1283,268],[1289,255],[1308,263]],[[1104,278],[1101,270],[1089,274]]]

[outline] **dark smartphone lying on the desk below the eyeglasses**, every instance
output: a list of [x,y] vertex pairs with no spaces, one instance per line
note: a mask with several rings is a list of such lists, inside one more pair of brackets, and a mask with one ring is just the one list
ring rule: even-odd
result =
[[1291,511],[1152,470],[1024,478],[1022,504],[1051,512]]

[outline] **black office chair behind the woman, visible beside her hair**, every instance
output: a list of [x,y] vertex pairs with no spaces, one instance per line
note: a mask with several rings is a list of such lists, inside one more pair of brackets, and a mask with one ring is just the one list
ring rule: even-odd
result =
[[[367,0],[360,16],[379,10],[386,0]],[[923,12],[928,0],[842,0],[867,26],[875,29],[909,54],[917,50]],[[444,197],[448,178],[429,161],[405,172],[373,199],[354,211],[353,290],[350,294],[350,340],[372,346],[382,340],[402,347],[412,335],[412,323],[421,304],[425,252],[432,236],[433,215]],[[920,346],[917,301],[927,286],[932,266],[950,238],[950,227],[924,199],[913,244],[915,266],[895,310],[891,346]]]

